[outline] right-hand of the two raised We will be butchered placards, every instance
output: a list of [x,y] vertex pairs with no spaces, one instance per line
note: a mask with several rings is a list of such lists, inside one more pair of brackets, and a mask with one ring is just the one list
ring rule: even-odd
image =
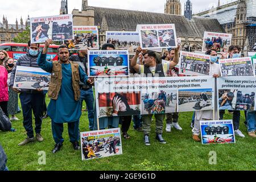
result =
[[177,47],[175,24],[139,24],[137,27],[142,48]]

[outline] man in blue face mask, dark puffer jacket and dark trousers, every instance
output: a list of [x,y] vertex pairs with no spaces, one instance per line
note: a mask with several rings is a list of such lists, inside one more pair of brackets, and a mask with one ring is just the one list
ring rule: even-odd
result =
[[[28,42],[28,52],[26,55],[20,56],[18,61],[16,62],[13,71],[11,72],[10,77],[10,86],[11,88],[19,94],[20,103],[22,105],[22,113],[23,113],[23,126],[27,131],[27,138],[19,143],[19,146],[23,146],[27,143],[34,142],[38,140],[38,142],[43,141],[43,137],[41,136],[41,126],[42,126],[42,110],[44,106],[44,94],[41,90],[30,90],[30,89],[14,89],[14,78],[16,72],[16,66],[23,67],[36,67],[38,68],[38,55],[39,55],[39,44],[32,44]],[[35,117],[35,133],[32,126],[32,111]]]

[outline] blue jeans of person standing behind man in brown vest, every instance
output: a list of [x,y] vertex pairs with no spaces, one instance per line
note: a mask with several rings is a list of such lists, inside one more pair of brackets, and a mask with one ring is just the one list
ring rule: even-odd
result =
[[80,96],[81,106],[82,102],[85,101],[87,109],[88,109],[88,119],[89,119],[89,129],[93,130],[93,123],[94,123],[94,96],[93,96],[93,89],[90,88],[88,90],[81,89],[81,96]]

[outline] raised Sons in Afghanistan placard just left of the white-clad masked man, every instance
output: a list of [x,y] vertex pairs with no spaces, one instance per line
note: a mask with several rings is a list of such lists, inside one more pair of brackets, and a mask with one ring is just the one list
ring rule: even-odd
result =
[[190,76],[209,76],[210,56],[181,51],[179,73]]

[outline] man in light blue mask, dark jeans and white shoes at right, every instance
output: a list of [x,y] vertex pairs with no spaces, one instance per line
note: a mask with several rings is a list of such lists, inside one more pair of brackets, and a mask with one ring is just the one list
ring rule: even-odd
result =
[[[241,57],[241,48],[239,46],[230,46],[228,51],[228,59],[235,59]],[[223,57],[225,59],[225,57]],[[233,125],[234,125],[234,133],[239,137],[245,137],[242,134],[242,131],[239,130],[240,127],[240,110],[229,110],[230,113],[233,112]],[[225,110],[220,110],[220,119],[223,119],[223,115],[225,114]]]

